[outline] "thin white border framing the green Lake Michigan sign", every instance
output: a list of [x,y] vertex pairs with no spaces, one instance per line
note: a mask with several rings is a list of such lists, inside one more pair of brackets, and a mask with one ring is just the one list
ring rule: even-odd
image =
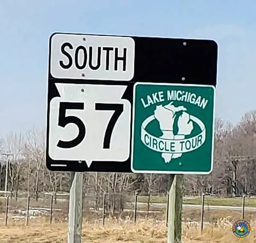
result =
[[[157,85],[157,86],[189,86],[189,87],[209,87],[213,89],[213,110],[212,110],[212,156],[211,156],[211,168],[210,171],[147,171],[147,170],[135,170],[133,168],[133,157],[134,157],[134,115],[135,115],[135,89],[136,86],[142,85]],[[133,173],[145,173],[145,174],[195,174],[195,175],[208,175],[211,174],[213,170],[213,156],[214,156],[214,126],[215,126],[215,92],[216,88],[213,85],[203,85],[203,84],[170,84],[170,83],[143,83],[136,82],[133,87],[133,105],[132,105],[132,127],[131,127],[131,171]]]

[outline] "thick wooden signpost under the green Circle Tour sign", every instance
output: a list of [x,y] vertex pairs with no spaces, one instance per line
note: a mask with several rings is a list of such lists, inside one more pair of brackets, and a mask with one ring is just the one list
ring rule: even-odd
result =
[[181,243],[183,175],[170,175],[168,208],[168,243]]

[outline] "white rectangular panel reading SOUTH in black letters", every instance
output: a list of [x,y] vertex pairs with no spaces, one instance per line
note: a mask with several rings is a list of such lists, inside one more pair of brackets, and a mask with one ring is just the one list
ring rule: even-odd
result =
[[54,34],[50,40],[53,78],[130,81],[135,43],[130,37]]

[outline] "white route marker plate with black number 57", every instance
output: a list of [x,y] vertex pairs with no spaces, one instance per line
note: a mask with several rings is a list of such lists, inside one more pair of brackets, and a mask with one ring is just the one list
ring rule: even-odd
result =
[[126,86],[56,84],[50,101],[49,156],[54,160],[125,161],[130,154],[131,104]]

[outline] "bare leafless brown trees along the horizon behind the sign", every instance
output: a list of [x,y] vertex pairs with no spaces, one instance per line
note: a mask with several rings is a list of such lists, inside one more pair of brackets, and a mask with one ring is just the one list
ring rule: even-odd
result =
[[[214,167],[209,175],[185,175],[184,194],[256,195],[256,110],[231,124],[215,118]],[[45,167],[45,131],[33,128],[26,133],[10,132],[0,140],[0,191],[14,197],[29,193],[69,191],[72,174],[48,171]],[[6,172],[6,156],[9,166]],[[84,193],[164,194],[169,188],[166,174],[85,173]]]

